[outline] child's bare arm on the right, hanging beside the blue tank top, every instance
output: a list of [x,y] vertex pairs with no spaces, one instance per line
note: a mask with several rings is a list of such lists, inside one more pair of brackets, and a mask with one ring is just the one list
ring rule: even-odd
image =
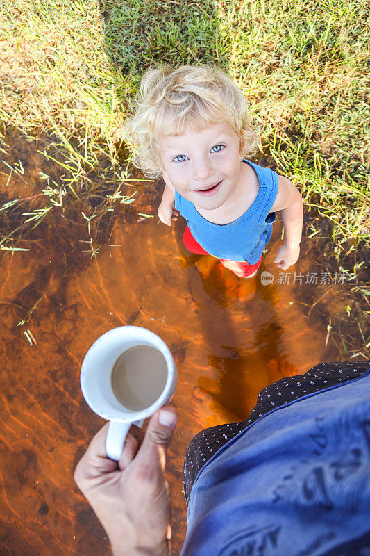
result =
[[279,211],[284,224],[285,243],[280,247],[274,263],[279,268],[287,270],[298,261],[299,244],[302,238],[303,203],[298,189],[292,181],[284,176],[278,176],[278,195],[271,211]]

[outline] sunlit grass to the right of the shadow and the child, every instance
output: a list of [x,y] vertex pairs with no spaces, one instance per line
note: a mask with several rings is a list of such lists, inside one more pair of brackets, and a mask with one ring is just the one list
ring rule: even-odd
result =
[[339,255],[344,243],[369,238],[367,3],[242,4],[221,8],[230,70],[251,100],[264,150],[333,222]]

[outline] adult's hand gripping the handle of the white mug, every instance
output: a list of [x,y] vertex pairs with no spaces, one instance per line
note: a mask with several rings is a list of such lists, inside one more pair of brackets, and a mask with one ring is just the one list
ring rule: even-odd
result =
[[107,423],[76,467],[74,480],[106,530],[115,556],[169,552],[171,506],[164,471],[176,420],[176,411],[167,406],[152,416],[145,436],[133,425],[118,462],[106,455]]

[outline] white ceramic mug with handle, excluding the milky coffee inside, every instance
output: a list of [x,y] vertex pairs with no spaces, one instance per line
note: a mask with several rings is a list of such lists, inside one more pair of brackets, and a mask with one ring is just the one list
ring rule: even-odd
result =
[[[151,406],[142,411],[132,411],[115,397],[110,376],[119,356],[138,345],[149,345],[163,355],[167,363],[167,381],[159,398]],[[81,390],[92,411],[110,421],[106,439],[106,452],[110,459],[119,460],[131,424],[141,427],[147,417],[169,401],[176,384],[176,366],[169,348],[157,334],[146,328],[114,328],[92,344],[81,367]]]

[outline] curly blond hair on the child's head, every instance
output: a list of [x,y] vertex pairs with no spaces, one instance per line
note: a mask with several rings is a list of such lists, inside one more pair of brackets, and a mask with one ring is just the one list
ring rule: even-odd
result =
[[162,175],[158,137],[180,135],[189,125],[202,128],[226,121],[235,129],[244,156],[252,156],[258,149],[258,131],[251,124],[242,91],[216,67],[148,70],[136,101],[135,115],[124,124],[124,136],[133,151],[133,165],[147,177]]

